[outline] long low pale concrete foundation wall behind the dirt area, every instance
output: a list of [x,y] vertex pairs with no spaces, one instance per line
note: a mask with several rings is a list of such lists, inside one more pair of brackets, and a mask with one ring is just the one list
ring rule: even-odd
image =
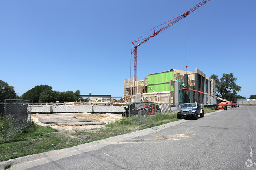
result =
[[[122,113],[125,106],[39,106],[32,105],[31,113]],[[126,106],[127,107],[127,106]]]

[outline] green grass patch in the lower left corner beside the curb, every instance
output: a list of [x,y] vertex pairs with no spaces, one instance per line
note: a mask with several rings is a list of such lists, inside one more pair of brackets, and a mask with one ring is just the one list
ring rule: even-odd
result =
[[6,142],[4,142],[4,133],[1,132],[0,161],[68,148],[78,144],[80,144],[78,140],[60,135],[56,129],[33,123],[33,126],[23,128],[20,132],[8,137]]

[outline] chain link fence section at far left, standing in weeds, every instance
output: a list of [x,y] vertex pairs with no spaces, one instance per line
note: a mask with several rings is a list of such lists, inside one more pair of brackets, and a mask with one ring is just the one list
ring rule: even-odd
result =
[[4,100],[4,141],[7,137],[31,126],[30,101],[19,99]]

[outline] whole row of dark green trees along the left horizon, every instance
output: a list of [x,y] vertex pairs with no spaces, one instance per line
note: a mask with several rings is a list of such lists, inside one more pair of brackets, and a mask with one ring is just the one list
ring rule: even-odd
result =
[[52,90],[48,85],[37,85],[23,95],[18,96],[15,93],[14,87],[0,80],[0,102],[4,99],[23,99],[31,101],[66,101],[76,102],[80,98],[80,91],[65,91],[59,92]]

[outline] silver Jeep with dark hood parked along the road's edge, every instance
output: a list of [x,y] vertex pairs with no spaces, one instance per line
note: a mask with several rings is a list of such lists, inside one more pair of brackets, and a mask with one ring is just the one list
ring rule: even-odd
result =
[[200,103],[184,103],[182,109],[177,111],[177,119],[182,119],[182,116],[190,116],[197,120],[198,115],[204,117],[204,109]]

